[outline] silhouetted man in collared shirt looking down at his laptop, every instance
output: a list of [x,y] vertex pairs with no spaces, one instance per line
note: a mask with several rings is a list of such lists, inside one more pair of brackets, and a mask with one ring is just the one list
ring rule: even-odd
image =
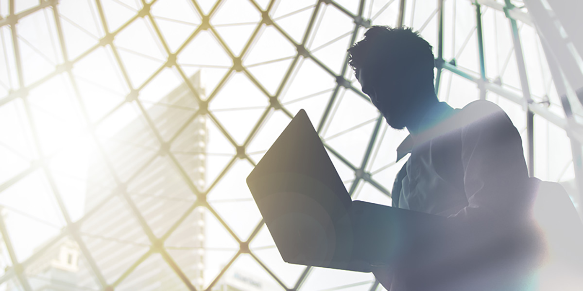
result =
[[[453,232],[403,262],[378,267],[390,291],[528,290],[539,262],[529,222],[534,191],[522,141],[497,105],[439,102],[431,45],[408,28],[373,26],[349,49],[362,90],[389,126],[410,135],[392,206],[448,217]],[[469,97],[470,98],[470,97]],[[444,230],[445,232],[445,230]]]

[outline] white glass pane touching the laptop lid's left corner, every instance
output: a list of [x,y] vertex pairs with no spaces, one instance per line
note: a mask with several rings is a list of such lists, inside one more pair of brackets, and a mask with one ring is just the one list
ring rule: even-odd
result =
[[252,169],[247,161],[237,161],[223,177],[222,183],[210,190],[207,198],[240,240],[247,240],[261,221],[257,204],[245,182]]

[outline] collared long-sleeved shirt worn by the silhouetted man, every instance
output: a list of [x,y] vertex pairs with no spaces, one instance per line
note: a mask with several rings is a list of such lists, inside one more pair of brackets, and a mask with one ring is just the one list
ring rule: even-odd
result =
[[517,129],[489,101],[463,109],[440,102],[423,124],[399,145],[398,158],[411,155],[395,180],[393,207],[448,217],[459,233],[433,258],[397,266],[390,290],[518,290],[499,284],[536,261],[536,246],[524,245],[534,193]]

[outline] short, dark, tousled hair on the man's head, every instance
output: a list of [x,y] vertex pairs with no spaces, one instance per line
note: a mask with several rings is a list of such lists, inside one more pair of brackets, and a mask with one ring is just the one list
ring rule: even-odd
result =
[[376,73],[389,70],[433,86],[432,48],[409,27],[373,26],[364,33],[363,40],[348,49],[348,63],[355,72],[362,68]]

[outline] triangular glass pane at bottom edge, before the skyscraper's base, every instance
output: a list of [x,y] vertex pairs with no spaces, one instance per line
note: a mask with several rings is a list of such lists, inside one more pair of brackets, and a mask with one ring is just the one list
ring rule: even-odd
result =
[[129,274],[120,285],[119,291],[133,290],[185,290],[187,286],[160,254],[152,254]]

